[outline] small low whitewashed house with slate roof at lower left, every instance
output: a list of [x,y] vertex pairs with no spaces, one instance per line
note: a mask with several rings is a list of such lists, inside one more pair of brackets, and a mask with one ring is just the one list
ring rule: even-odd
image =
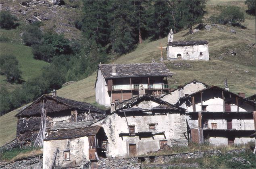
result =
[[[81,161],[105,157],[108,138],[101,126],[52,129],[44,139],[43,168],[69,168]],[[78,127],[78,128],[77,128]]]

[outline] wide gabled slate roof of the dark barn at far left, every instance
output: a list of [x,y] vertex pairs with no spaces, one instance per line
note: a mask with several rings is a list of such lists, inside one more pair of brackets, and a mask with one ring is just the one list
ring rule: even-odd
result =
[[[38,103],[40,103],[43,100],[43,98],[45,98],[46,100],[45,107],[47,108],[48,113],[72,109],[72,110],[80,110],[80,111],[90,110],[91,112],[94,112],[94,113],[104,114],[104,111],[102,109],[94,105],[91,105],[89,103],[66,99],[59,96],[42,95],[37,100],[35,100],[31,105],[19,111],[19,113],[17,113],[17,115],[15,116],[18,117],[18,116],[31,116],[35,114],[41,114],[43,104],[38,104]],[[57,102],[58,104],[54,104],[54,102]]]

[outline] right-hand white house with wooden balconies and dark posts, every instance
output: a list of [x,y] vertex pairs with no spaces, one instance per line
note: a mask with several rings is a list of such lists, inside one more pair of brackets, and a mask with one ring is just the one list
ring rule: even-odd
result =
[[210,144],[239,144],[254,140],[255,102],[225,89],[212,86],[179,99],[187,109],[188,139]]

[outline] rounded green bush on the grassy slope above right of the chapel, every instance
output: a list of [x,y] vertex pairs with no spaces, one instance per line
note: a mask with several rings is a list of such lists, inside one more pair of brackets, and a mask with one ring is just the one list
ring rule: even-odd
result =
[[244,12],[238,6],[227,6],[219,16],[220,23],[224,25],[230,23],[233,26],[240,26],[244,19]]

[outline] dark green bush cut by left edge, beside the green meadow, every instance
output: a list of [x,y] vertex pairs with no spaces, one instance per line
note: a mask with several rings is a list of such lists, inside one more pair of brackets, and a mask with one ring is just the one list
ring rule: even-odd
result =
[[8,82],[20,82],[21,71],[19,70],[19,62],[13,55],[2,55],[1,62],[1,75],[5,75]]

